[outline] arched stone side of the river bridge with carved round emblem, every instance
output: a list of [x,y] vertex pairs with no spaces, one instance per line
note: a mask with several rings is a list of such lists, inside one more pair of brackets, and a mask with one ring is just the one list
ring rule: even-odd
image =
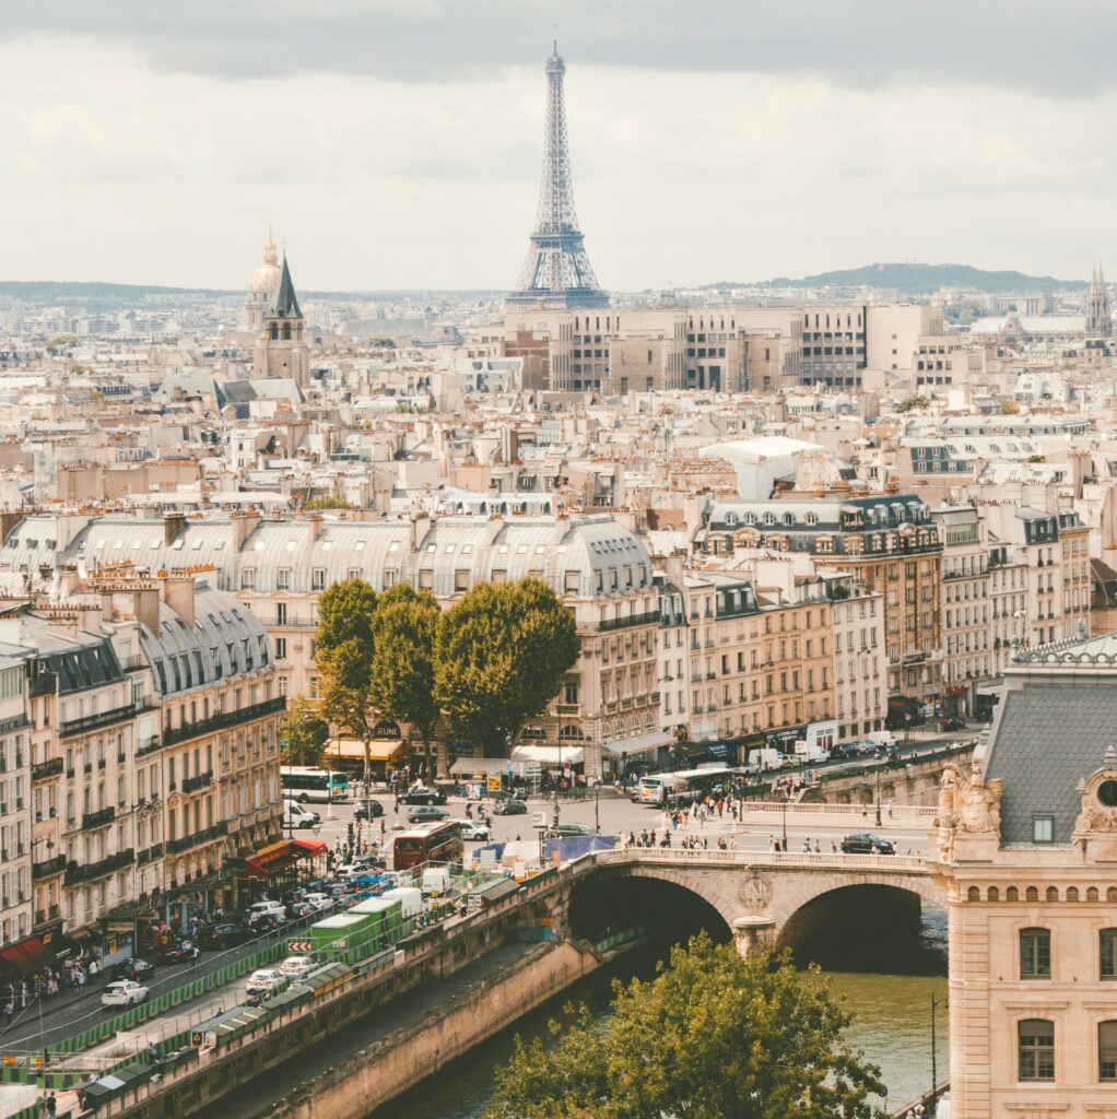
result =
[[[760,942],[779,950],[809,932],[839,935],[865,920],[890,934],[898,920],[918,922],[922,902],[945,902],[917,856],[628,847],[578,863],[583,873],[592,865],[599,893],[618,880],[654,880],[701,897],[742,952]],[[576,891],[572,918],[575,902]]]

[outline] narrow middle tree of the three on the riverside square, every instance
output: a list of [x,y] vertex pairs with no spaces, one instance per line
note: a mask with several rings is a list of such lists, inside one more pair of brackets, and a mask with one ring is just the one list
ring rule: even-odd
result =
[[434,634],[441,613],[430,591],[397,583],[381,595],[373,615],[373,703],[419,732],[428,779],[434,775],[431,740],[441,714],[434,697]]

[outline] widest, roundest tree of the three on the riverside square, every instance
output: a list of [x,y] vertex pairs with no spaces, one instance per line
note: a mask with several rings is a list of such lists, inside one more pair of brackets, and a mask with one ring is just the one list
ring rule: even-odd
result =
[[573,617],[542,580],[480,583],[439,619],[435,699],[458,737],[501,756],[580,649]]

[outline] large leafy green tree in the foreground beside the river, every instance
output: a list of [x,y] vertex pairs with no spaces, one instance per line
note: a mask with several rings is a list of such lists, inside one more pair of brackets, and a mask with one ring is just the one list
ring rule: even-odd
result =
[[883,1119],[850,1021],[817,969],[703,933],[650,982],[616,984],[603,1023],[583,1007],[553,1044],[517,1040],[488,1119]]

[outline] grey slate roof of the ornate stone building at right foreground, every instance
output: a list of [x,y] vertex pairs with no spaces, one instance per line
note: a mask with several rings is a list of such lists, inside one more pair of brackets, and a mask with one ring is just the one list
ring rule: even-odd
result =
[[1117,680],[1024,680],[1006,689],[986,777],[1004,780],[1001,841],[1032,841],[1033,815],[1054,816],[1054,841],[1070,843],[1081,808],[1079,779],[1101,769],[1117,740]]

